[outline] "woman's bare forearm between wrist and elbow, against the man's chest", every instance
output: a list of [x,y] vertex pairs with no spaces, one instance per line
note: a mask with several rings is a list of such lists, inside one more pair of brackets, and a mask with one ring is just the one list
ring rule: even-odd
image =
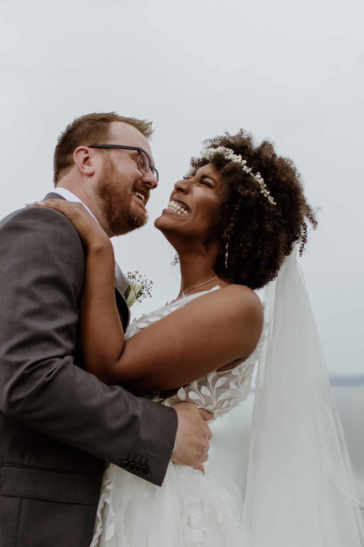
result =
[[115,301],[115,258],[110,240],[87,247],[79,310],[79,340],[85,369],[107,381],[125,340]]

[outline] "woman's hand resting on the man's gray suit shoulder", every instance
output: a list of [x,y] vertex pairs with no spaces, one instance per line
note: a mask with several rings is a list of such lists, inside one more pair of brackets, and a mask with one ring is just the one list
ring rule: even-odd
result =
[[111,245],[109,237],[101,226],[89,214],[82,203],[66,201],[62,199],[52,199],[27,203],[27,207],[48,207],[64,214],[65,217],[75,226],[79,233],[83,247],[96,245]]

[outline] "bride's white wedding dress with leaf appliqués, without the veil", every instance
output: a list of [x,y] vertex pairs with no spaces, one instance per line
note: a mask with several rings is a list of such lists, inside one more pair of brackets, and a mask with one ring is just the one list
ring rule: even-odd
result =
[[[207,294],[181,298],[133,321],[130,338],[140,329]],[[231,371],[214,371],[162,404],[189,401],[222,416],[248,397],[256,360],[266,337],[266,324],[250,357]],[[160,399],[156,398],[157,401]],[[91,547],[235,547],[247,545],[242,526],[240,489],[215,464],[205,474],[172,462],[162,487],[114,464],[106,466]]]

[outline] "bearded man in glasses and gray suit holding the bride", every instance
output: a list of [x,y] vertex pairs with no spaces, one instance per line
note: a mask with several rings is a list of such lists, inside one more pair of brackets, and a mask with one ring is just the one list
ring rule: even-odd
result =
[[[45,199],[81,201],[110,237],[140,228],[157,186],[151,133],[115,113],[76,119],[58,139],[56,190]],[[203,470],[211,415],[134,397],[81,368],[84,254],[62,214],[31,207],[5,217],[0,257],[0,545],[88,547],[105,461],[158,486],[170,459]],[[127,284],[116,266],[124,329]]]

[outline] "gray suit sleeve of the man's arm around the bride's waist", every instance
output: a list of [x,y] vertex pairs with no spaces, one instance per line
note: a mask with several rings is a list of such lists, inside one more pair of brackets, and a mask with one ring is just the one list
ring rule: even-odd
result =
[[46,208],[13,213],[0,223],[0,260],[1,410],[105,461],[142,463],[161,485],[176,412],[74,363],[84,269],[74,226]]

